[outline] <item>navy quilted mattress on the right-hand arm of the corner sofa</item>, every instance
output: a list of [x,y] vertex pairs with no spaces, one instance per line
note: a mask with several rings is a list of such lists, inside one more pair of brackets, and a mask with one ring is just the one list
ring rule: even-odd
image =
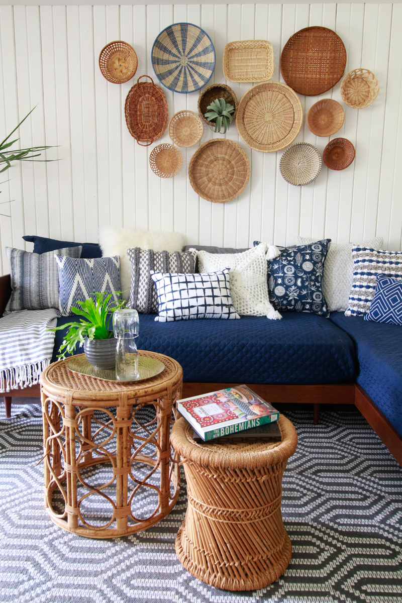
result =
[[353,339],[357,383],[402,436],[402,327],[333,312],[330,320]]

